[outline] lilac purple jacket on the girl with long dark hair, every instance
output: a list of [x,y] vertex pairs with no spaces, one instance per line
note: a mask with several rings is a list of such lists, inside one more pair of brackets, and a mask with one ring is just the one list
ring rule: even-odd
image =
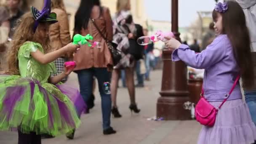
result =
[[[181,45],[172,54],[172,61],[179,60],[190,67],[205,69],[203,89],[208,101],[225,99],[240,71],[227,35],[216,37],[201,53],[190,50],[188,45]],[[228,98],[233,99],[242,99],[239,83]]]

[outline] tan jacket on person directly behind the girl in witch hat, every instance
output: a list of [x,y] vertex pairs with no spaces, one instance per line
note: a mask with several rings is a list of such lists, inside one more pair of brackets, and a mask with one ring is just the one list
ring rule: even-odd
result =
[[58,22],[51,24],[49,37],[52,51],[56,51],[71,42],[69,33],[69,21],[67,13],[61,9],[54,8],[52,12],[57,14]]

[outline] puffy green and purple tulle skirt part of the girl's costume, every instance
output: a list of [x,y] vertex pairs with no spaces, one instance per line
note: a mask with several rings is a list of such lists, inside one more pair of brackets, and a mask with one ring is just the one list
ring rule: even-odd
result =
[[80,125],[74,104],[49,83],[0,75],[0,130],[65,134]]

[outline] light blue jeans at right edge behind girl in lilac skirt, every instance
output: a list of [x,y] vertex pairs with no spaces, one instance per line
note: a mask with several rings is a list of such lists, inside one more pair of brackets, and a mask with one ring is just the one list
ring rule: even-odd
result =
[[245,101],[250,110],[253,123],[256,125],[256,91],[245,91]]

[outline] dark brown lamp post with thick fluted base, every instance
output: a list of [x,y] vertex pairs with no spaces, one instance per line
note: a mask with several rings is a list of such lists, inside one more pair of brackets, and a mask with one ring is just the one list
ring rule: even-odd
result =
[[[171,1],[171,28],[181,41],[178,29],[178,0]],[[157,117],[164,120],[189,120],[190,112],[183,107],[189,101],[186,65],[182,61],[171,61],[172,51],[163,50],[163,77],[160,97],[157,99]]]

